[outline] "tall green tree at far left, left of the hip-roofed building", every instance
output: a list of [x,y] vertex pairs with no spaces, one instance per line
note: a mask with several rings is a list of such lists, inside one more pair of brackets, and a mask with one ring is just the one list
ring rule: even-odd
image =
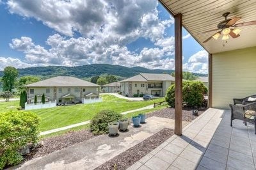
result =
[[12,92],[18,75],[18,70],[15,67],[6,66],[6,68],[4,68],[4,76],[2,77],[3,91]]

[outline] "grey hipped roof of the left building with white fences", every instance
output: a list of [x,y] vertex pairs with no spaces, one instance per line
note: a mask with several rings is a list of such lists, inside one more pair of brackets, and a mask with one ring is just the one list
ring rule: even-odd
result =
[[26,87],[99,87],[99,85],[76,77],[58,76],[28,84]]

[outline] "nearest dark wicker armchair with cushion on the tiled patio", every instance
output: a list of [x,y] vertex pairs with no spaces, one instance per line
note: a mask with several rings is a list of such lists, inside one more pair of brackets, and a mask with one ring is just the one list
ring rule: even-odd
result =
[[246,104],[246,105],[229,105],[231,107],[231,122],[230,126],[232,127],[233,120],[243,120],[244,125],[247,125],[247,122],[254,124],[254,130],[256,134],[256,102]]

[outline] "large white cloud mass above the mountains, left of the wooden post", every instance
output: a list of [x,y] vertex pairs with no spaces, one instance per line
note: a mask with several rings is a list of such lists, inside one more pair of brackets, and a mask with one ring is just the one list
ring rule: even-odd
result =
[[[10,47],[24,52],[26,63],[173,68],[174,38],[164,38],[164,30],[173,24],[173,19],[159,19],[157,1],[8,0],[7,4],[11,13],[33,17],[60,33],[47,38],[49,49],[36,45],[29,37],[14,38]],[[72,37],[76,31],[83,37]],[[129,51],[126,45],[140,37],[157,47]]]

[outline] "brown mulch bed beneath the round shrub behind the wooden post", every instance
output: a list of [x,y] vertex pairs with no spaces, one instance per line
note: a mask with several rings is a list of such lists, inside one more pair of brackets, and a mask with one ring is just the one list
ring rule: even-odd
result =
[[[198,116],[206,110],[207,110],[207,108],[198,109]],[[192,111],[193,111],[193,109],[191,109],[190,107],[183,107],[182,121],[193,121],[193,120],[195,120],[195,118],[197,118],[198,116],[194,116],[192,114]],[[147,118],[150,118],[152,116],[157,116],[157,117],[161,117],[161,118],[168,118],[168,119],[173,119],[174,120],[174,108],[168,107],[168,108],[161,109],[159,111],[150,112],[150,113],[147,114]]]

